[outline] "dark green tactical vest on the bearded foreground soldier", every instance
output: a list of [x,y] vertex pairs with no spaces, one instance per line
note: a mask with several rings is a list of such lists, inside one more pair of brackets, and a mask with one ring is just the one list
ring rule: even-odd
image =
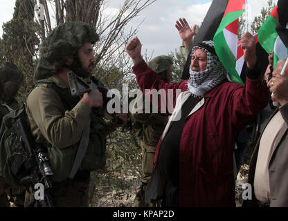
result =
[[[37,82],[37,86],[43,84],[45,84],[47,88],[55,90],[66,107],[66,111],[71,111],[80,101],[80,97],[71,95],[69,88],[60,88],[48,79]],[[78,171],[96,171],[105,166],[106,138],[104,131],[106,126],[102,113],[100,113],[100,111],[92,111],[89,144]],[[46,142],[45,145],[48,148],[48,155],[54,173],[54,175],[51,176],[51,180],[53,182],[65,181],[71,173],[78,144],[64,149],[55,148],[48,142]]]

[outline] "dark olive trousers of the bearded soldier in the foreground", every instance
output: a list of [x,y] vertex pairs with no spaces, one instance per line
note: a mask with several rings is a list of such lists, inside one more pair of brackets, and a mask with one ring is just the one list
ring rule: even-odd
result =
[[[55,207],[88,207],[93,198],[95,180],[70,182],[67,188],[66,182],[53,183],[50,189]],[[33,199],[34,193],[26,193],[25,205]]]

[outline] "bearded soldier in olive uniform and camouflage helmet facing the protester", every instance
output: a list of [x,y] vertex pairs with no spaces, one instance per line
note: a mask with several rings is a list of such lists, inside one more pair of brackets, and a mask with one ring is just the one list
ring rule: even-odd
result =
[[[73,71],[82,79],[90,76],[96,62],[93,44],[98,39],[96,30],[87,23],[66,22],[57,26],[42,43],[34,75],[37,86],[26,102],[35,142],[46,146],[50,157],[55,206],[88,206],[91,171],[105,166],[105,137],[127,123],[127,115],[121,113],[116,116],[123,124],[105,121],[101,111],[104,95],[98,89],[82,97],[71,96],[67,73]],[[78,142],[87,126],[87,151],[73,180],[67,182]],[[27,194],[26,204],[31,197],[32,193]]]

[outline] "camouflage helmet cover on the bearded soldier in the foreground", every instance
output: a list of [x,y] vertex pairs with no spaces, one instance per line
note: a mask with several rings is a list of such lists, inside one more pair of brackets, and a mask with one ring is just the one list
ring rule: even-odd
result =
[[79,48],[99,40],[96,30],[87,23],[74,21],[57,26],[40,46],[40,58],[35,68],[34,81],[55,75]]

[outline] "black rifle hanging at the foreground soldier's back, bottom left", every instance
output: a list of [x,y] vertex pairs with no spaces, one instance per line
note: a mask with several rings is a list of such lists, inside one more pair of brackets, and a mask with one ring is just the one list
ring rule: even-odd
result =
[[[53,171],[49,164],[47,151],[42,146],[34,146],[32,144],[32,137],[27,132],[30,131],[30,128],[24,117],[17,119],[12,128],[15,132],[15,139],[18,141],[17,144],[19,145],[19,150],[21,150],[20,152],[25,153],[25,170],[29,171],[28,175],[21,179],[21,184],[31,186],[32,189],[34,189],[36,184],[43,184],[44,186],[44,200],[33,198],[28,207],[53,207],[53,201],[49,192],[49,189],[52,187],[49,176],[53,175]],[[17,173],[17,171],[13,171],[13,173]]]

